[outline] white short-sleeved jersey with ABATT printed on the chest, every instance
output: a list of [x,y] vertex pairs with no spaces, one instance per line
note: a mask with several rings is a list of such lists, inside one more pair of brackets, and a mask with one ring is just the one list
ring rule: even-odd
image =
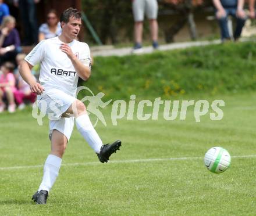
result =
[[[79,75],[66,53],[59,49],[62,43],[59,37],[45,39],[34,47],[25,60],[32,66],[41,64],[39,81],[45,89],[61,89],[75,96]],[[68,45],[84,65],[91,67],[90,49],[86,43],[74,39]]]

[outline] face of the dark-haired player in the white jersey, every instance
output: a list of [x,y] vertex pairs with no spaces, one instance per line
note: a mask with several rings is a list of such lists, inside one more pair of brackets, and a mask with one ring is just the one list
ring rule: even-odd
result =
[[75,39],[79,34],[80,28],[81,19],[70,17],[68,23],[63,23],[62,31],[64,31],[70,38]]

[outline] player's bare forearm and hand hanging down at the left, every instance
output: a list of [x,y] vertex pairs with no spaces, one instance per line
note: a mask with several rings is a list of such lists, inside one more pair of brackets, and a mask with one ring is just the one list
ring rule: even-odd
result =
[[22,76],[23,80],[29,84],[30,89],[33,93],[36,93],[37,95],[41,95],[44,91],[44,88],[42,88],[41,84],[35,81],[33,75],[31,74],[31,69],[33,68],[33,65],[26,62],[26,60],[23,60],[23,62],[19,66],[20,75]]

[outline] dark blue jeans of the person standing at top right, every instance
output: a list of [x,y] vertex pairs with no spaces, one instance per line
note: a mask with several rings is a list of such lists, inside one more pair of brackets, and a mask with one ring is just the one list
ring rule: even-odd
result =
[[229,29],[227,27],[227,16],[232,16],[236,19],[236,29],[234,30],[234,39],[238,39],[244,27],[246,19],[241,19],[236,16],[236,8],[224,8],[226,11],[226,16],[218,19],[219,27],[221,28],[221,38],[230,39]]

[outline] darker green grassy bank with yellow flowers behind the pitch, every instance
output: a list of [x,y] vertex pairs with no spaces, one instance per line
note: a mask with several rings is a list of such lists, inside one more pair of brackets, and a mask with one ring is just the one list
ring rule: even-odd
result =
[[80,82],[109,99],[256,89],[254,42],[209,45],[150,55],[95,57],[90,80]]

